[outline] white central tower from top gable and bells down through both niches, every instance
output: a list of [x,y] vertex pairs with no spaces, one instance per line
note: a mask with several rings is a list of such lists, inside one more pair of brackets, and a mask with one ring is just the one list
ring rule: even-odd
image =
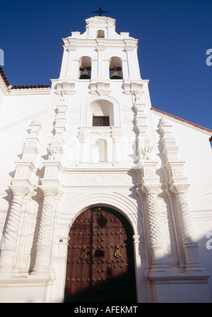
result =
[[[86,32],[71,32],[63,39],[57,94],[66,94],[69,113],[81,113],[67,126],[67,143],[75,147],[71,154],[67,145],[69,165],[128,166],[136,160],[130,145],[135,137],[131,107],[135,94],[141,102],[144,90],[148,100],[148,82],[139,71],[138,40],[128,32],[118,34],[115,23],[113,18],[94,16],[86,20]],[[78,139],[74,138],[77,130]]]

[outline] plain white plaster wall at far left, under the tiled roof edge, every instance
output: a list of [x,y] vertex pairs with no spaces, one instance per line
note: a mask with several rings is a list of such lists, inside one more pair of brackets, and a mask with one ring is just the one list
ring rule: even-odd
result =
[[[16,164],[20,160],[25,138],[28,136],[29,125],[33,119],[39,119],[42,123],[40,132],[39,150],[42,150],[45,136],[45,123],[47,119],[47,107],[49,92],[42,95],[36,92],[18,92],[16,95],[6,95],[0,108],[0,143],[1,143],[1,177],[0,177],[0,231],[4,229],[6,214],[11,200],[8,186],[14,177]],[[39,164],[39,162],[37,161]],[[2,242],[2,235],[0,244]]]

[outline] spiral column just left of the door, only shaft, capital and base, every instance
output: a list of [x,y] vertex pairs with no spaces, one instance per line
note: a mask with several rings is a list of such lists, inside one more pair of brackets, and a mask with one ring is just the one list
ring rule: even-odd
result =
[[57,188],[40,186],[44,192],[40,228],[37,237],[36,258],[32,275],[49,273],[52,255],[52,229],[54,223],[54,197]]

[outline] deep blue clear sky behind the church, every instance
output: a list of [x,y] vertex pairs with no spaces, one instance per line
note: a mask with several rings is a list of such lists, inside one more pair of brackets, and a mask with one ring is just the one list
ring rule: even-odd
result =
[[90,11],[102,7],[118,33],[139,39],[152,107],[212,129],[212,0],[0,1],[2,68],[11,85],[50,85],[59,77],[61,39],[85,32]]

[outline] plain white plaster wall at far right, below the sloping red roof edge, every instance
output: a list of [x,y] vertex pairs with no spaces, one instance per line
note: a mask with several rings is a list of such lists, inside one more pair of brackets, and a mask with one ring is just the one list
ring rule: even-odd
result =
[[[157,130],[162,116],[163,114],[153,114],[157,142],[160,140]],[[167,116],[166,119],[168,120]],[[185,161],[184,176],[188,177],[190,184],[188,203],[201,263],[212,276],[212,249],[206,247],[209,239],[206,235],[212,232],[212,149],[208,140],[211,133],[184,122],[179,123],[175,119],[170,119],[169,122],[172,124],[172,137],[179,147],[178,158]],[[159,148],[163,149],[161,146]],[[160,164],[164,164],[163,156]],[[212,294],[212,277],[209,279],[209,288]]]

